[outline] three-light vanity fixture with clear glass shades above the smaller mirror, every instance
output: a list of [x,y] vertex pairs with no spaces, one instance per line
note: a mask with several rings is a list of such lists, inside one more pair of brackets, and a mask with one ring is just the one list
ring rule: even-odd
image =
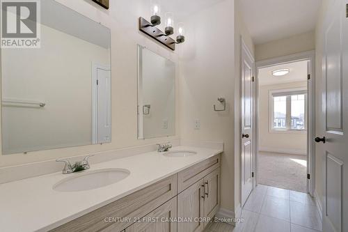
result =
[[159,30],[157,26],[161,24],[161,7],[159,6],[159,0],[151,0],[151,19],[150,22],[143,17],[139,17],[139,30],[147,34],[154,40],[161,42],[162,45],[175,51],[175,45],[185,41],[184,37],[184,24],[177,24],[177,38],[174,40],[170,36],[174,34],[174,17],[173,13],[168,12],[165,14],[164,32]]

